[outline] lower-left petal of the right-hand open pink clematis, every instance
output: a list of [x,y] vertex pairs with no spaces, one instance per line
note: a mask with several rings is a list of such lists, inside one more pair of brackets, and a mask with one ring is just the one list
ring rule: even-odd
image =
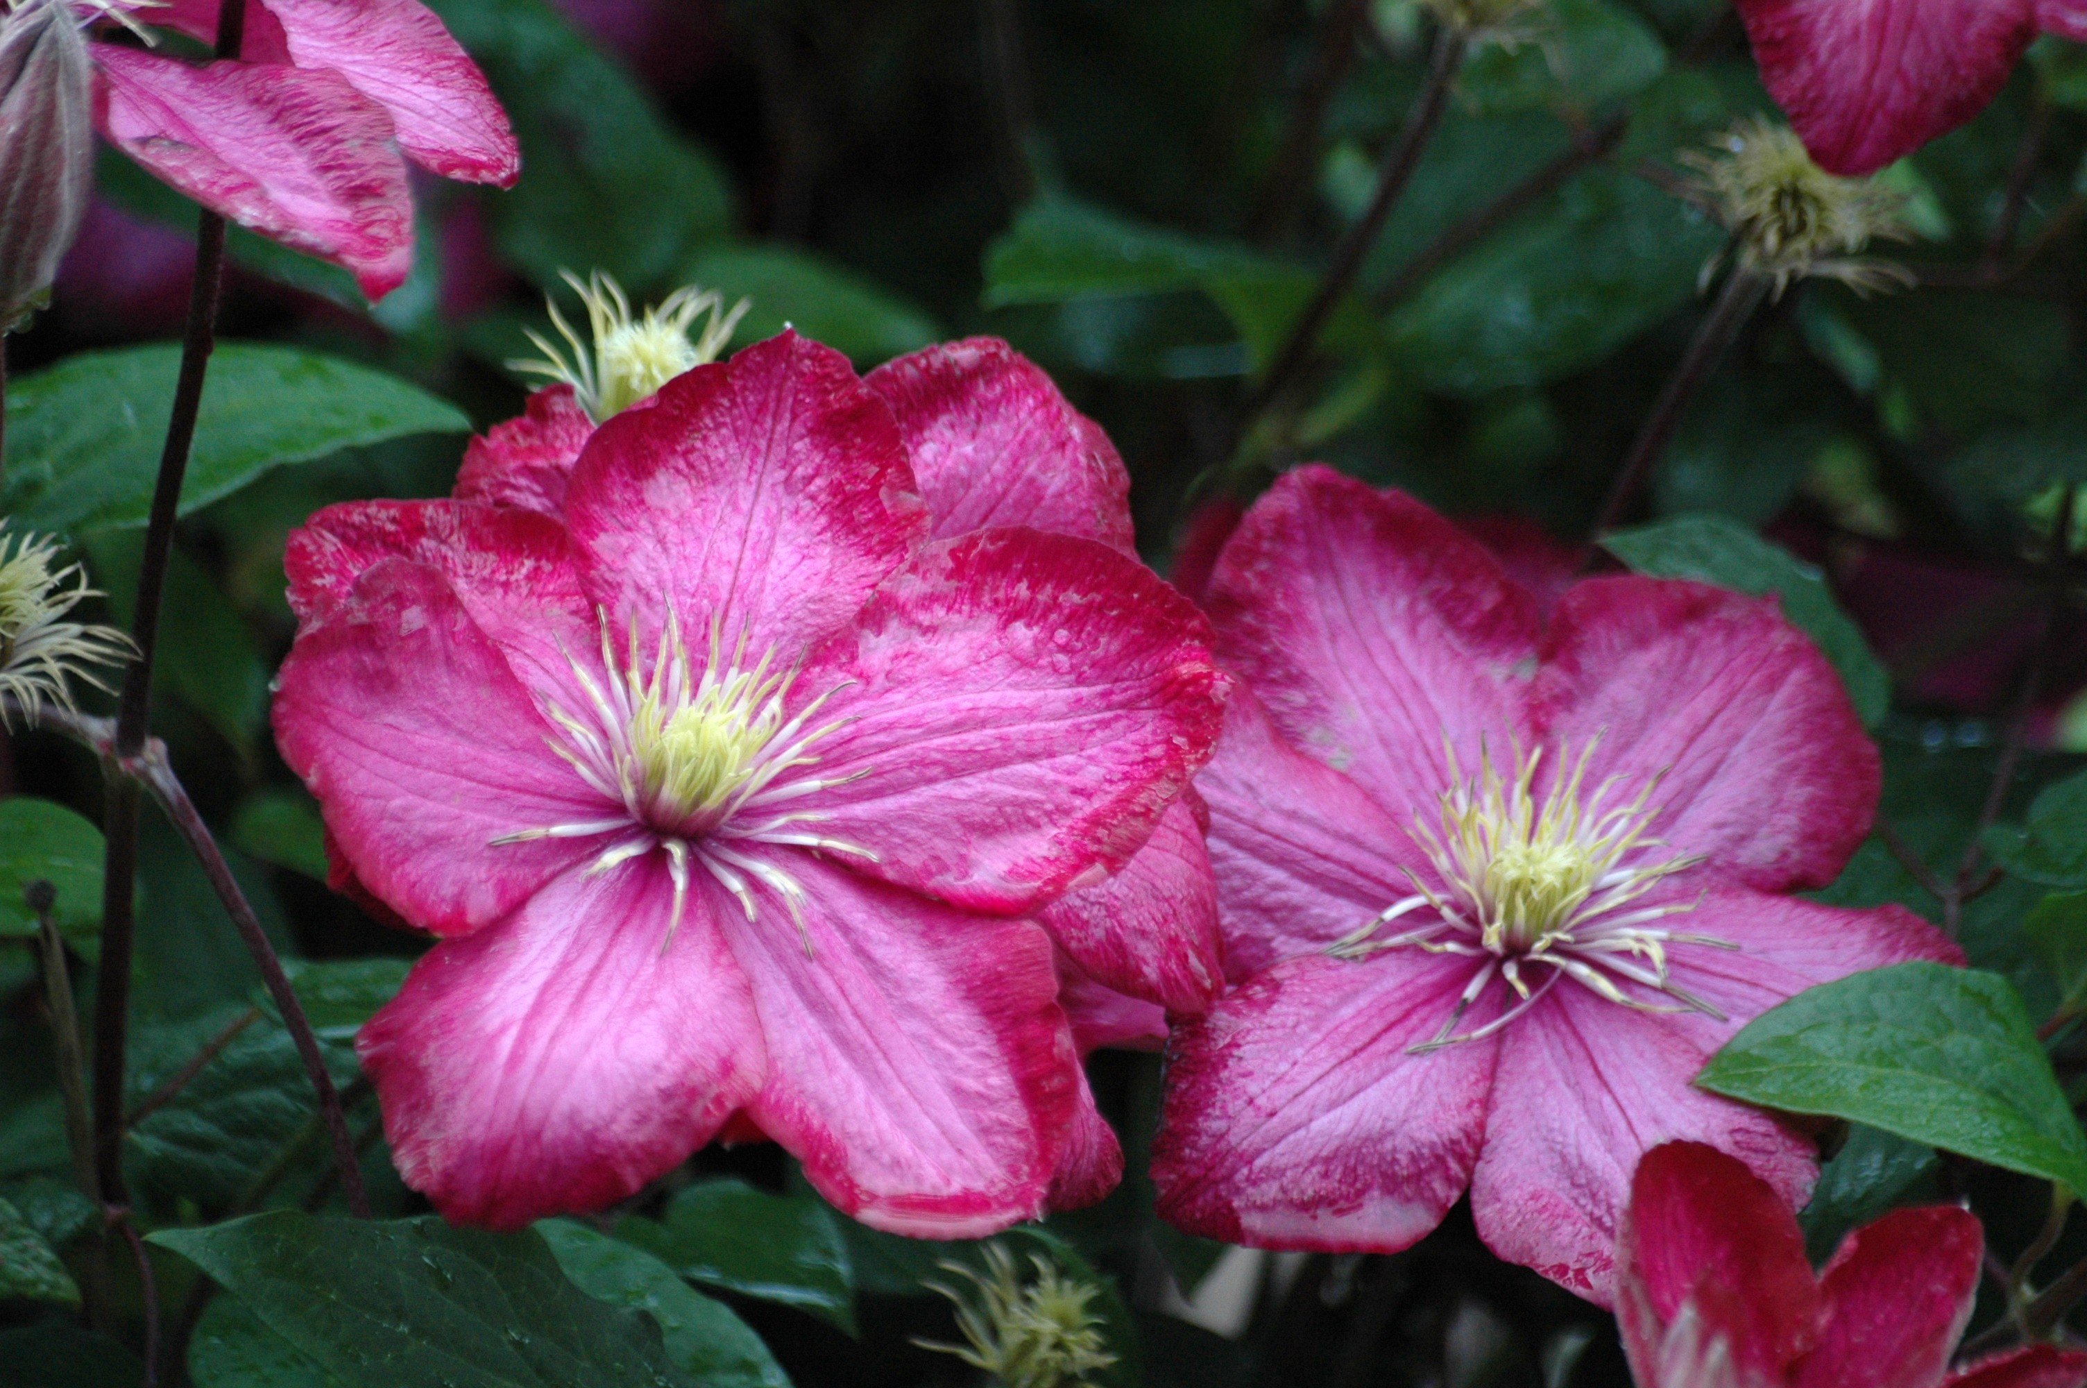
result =
[[1317,954],[1179,1023],[1152,1148],[1160,1217],[1323,1252],[1396,1252],[1434,1229],[1471,1175],[1498,1046],[1407,1048],[1440,1031],[1471,973],[1457,956]]

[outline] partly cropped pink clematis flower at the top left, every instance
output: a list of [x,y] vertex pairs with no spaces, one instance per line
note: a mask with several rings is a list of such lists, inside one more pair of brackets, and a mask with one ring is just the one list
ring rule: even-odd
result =
[[[198,40],[217,0],[81,0]],[[419,0],[246,0],[238,61],[94,44],[96,125],[227,219],[355,271],[369,298],[413,265],[405,161],[513,186],[522,154],[478,65]]]

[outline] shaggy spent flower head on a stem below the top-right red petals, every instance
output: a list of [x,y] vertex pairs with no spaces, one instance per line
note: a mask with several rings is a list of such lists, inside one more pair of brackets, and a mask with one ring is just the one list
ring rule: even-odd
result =
[[[1789,127],[1741,121],[1713,142],[1713,152],[1690,150],[1682,163],[1701,175],[1688,192],[1732,230],[1741,269],[1766,276],[1776,294],[1807,276],[1857,292],[1914,282],[1901,265],[1855,259],[1872,240],[1912,240],[1905,194],[1874,177],[1826,173]],[[1705,280],[1718,259],[1703,267]]]

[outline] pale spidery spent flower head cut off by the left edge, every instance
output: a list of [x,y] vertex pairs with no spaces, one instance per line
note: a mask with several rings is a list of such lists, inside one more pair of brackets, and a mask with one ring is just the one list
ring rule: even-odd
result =
[[113,626],[83,626],[65,616],[98,597],[77,564],[54,568],[50,536],[8,536],[0,522],[0,726],[19,710],[31,722],[44,703],[73,708],[71,680],[109,689],[96,666],[131,655],[131,641]]

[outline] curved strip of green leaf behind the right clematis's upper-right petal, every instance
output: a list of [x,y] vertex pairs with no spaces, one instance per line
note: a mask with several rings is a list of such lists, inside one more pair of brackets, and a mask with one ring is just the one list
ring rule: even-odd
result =
[[1615,530],[1601,536],[1601,545],[1640,574],[1699,578],[1753,595],[1776,593],[1782,616],[1803,626],[1841,672],[1864,726],[1874,728],[1891,712],[1891,676],[1876,664],[1862,628],[1832,601],[1826,578],[1786,549],[1722,516],[1676,516]]

